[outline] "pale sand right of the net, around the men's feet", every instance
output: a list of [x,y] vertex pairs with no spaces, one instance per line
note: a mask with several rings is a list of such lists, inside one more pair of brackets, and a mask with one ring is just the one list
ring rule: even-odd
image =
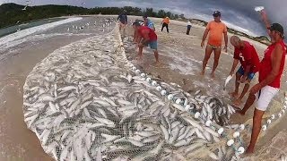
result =
[[[141,17],[133,17],[135,19],[141,19]],[[186,35],[186,22],[183,21],[171,21],[170,22],[170,33],[167,33],[166,29],[161,32],[161,19],[152,18],[152,21],[155,22],[156,33],[158,35],[158,44],[159,44],[159,54],[161,66],[154,66],[154,56],[152,50],[150,48],[143,49],[143,63],[138,64],[143,67],[143,70],[147,73],[150,73],[154,77],[160,78],[166,82],[174,82],[182,87],[182,89],[186,91],[190,91],[191,93],[195,93],[197,89],[203,90],[205,95],[221,97],[227,103],[231,103],[231,97],[228,95],[228,92],[232,92],[234,90],[234,81],[233,77],[228,84],[227,91],[223,90],[224,80],[227,78],[230,73],[230,68],[233,62],[233,47],[228,46],[228,52],[222,52],[220,63],[218,65],[215,79],[211,79],[209,73],[211,72],[211,68],[213,65],[213,55],[211,56],[207,67],[204,78],[200,76],[200,72],[202,69],[202,60],[204,59],[204,48],[200,47],[202,36],[204,33],[204,27],[193,24],[191,28],[190,34]],[[129,36],[132,36],[132,29],[129,28]],[[232,36],[230,33],[228,34],[229,38]],[[259,55],[259,59],[262,60],[263,54],[266,46],[257,41],[242,38],[244,40],[248,40],[252,43],[256,49],[257,54]],[[126,47],[126,55],[130,56],[130,60],[135,59],[136,52],[135,46]],[[135,62],[136,63],[136,62]],[[239,68],[239,65],[237,69]],[[286,68],[286,65],[285,65]],[[282,88],[280,93],[274,98],[274,101],[270,104],[269,108],[265,112],[263,123],[266,122],[267,118],[270,117],[271,114],[277,114],[280,112],[280,109],[283,106],[283,92],[287,89],[286,80],[286,72],[283,74],[282,78]],[[251,84],[254,85],[257,83],[258,75],[256,75],[255,79],[252,80]],[[243,89],[241,85],[239,87],[239,92]],[[248,94],[244,97],[243,101],[245,101],[248,97]],[[242,108],[244,104],[240,107]],[[252,125],[252,116],[254,112],[254,106],[250,107],[248,113],[245,116],[241,116],[239,114],[233,114],[230,119],[230,124],[240,124],[240,123],[251,123]],[[266,159],[274,159],[280,157],[281,154],[286,154],[286,149],[281,152],[273,152],[268,153],[270,156],[266,156],[265,153],[269,148],[274,149],[277,144],[283,145],[286,144],[287,140],[283,138],[282,135],[286,133],[287,126],[284,124],[286,122],[286,116],[278,119],[274,122],[268,131],[263,133],[263,138],[258,139],[257,142],[257,151],[253,157],[255,160],[266,160]],[[279,134],[280,133],[280,134]],[[276,136],[278,135],[278,136]],[[280,138],[281,143],[278,141],[272,146],[268,146],[271,142],[274,142],[273,138],[276,136],[274,140]],[[248,146],[248,142],[250,139],[250,135],[246,135],[245,137],[245,145]],[[280,146],[278,145],[278,146]]]

